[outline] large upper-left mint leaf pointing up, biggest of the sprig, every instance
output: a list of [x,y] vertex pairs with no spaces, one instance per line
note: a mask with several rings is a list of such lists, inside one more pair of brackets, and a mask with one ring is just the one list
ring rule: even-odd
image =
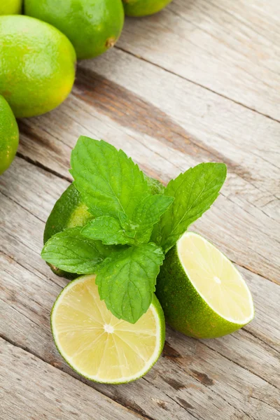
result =
[[94,216],[132,216],[150,194],[143,172],[123,151],[106,141],[80,137],[71,153],[70,170],[83,201]]

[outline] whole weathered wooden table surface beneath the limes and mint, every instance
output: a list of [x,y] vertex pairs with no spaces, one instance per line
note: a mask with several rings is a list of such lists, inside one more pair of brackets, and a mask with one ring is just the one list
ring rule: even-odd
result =
[[[19,121],[0,178],[1,420],[280,419],[279,99],[279,0],[174,0],[126,19],[116,48],[80,62],[62,106]],[[225,162],[221,195],[193,230],[235,262],[255,300],[254,321],[220,339],[167,327],[158,363],[127,385],[78,377],[50,333],[67,281],[40,258],[43,229],[81,134],[165,183]]]

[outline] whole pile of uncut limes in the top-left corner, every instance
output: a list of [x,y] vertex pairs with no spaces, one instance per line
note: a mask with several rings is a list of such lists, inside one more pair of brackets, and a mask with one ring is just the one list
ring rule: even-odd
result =
[[171,1],[1,0],[0,174],[18,148],[15,118],[55,109],[71,92],[76,59],[111,48],[125,15],[152,15]]

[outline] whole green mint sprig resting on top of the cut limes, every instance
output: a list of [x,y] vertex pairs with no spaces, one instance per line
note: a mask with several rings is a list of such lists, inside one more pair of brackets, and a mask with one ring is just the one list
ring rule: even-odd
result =
[[95,218],[54,235],[42,257],[68,272],[97,273],[108,309],[135,323],[151,304],[165,253],[216,200],[226,166],[202,163],[165,188],[123,151],[80,137],[71,167],[74,185]]

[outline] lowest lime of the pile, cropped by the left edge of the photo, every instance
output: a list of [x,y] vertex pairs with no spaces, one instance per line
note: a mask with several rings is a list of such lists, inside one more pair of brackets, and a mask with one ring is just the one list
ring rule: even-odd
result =
[[8,102],[0,95],[0,175],[10,166],[18,149],[18,124]]

